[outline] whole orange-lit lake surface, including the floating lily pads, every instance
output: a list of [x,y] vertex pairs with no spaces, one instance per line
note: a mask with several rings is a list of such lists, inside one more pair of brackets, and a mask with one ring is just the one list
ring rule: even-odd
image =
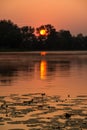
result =
[[86,130],[87,53],[0,53],[1,130]]

